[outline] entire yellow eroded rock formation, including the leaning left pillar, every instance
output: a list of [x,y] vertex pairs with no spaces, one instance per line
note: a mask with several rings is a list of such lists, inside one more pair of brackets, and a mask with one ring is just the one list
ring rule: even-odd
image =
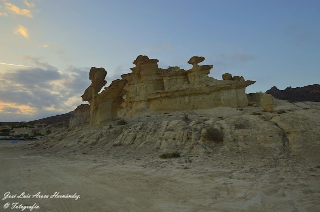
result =
[[[213,107],[245,107],[248,99],[245,87],[255,81],[244,81],[241,76],[229,80],[217,80],[207,75],[212,65],[198,65],[204,57],[193,56],[188,61],[189,70],[179,67],[158,68],[157,59],[138,56],[131,73],[121,75],[109,87],[98,92],[106,84],[103,68],[91,68],[91,85],[82,95],[90,103],[90,124],[99,125],[117,117],[117,110],[133,115],[145,110],[172,112]],[[224,79],[224,77],[223,77]]]

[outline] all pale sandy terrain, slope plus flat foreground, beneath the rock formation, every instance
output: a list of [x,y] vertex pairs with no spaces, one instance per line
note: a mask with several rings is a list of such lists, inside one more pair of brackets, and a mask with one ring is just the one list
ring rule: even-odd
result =
[[[308,109],[306,109],[308,108]],[[319,212],[320,104],[279,101],[276,110],[216,108],[128,117],[41,140],[0,141],[0,195],[35,212]],[[254,112],[260,115],[252,115]],[[207,127],[223,144],[203,140]],[[180,158],[160,159],[179,151]],[[24,210],[29,211],[29,210]]]

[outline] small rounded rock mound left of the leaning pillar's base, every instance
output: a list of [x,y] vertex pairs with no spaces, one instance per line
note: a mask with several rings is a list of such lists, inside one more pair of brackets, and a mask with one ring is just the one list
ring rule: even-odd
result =
[[74,110],[74,116],[70,118],[69,128],[72,128],[78,124],[89,123],[90,120],[90,105],[81,104]]

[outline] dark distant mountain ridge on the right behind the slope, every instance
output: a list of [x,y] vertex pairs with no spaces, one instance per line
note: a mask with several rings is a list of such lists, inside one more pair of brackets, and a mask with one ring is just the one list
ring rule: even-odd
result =
[[287,87],[284,90],[279,90],[273,86],[265,93],[283,100],[320,102],[320,85],[318,84],[296,88]]

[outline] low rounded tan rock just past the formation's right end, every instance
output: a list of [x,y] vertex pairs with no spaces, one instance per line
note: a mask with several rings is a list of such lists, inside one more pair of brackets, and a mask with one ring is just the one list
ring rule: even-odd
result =
[[274,97],[267,93],[249,93],[247,94],[250,105],[258,105],[266,112],[273,112],[276,105]]

